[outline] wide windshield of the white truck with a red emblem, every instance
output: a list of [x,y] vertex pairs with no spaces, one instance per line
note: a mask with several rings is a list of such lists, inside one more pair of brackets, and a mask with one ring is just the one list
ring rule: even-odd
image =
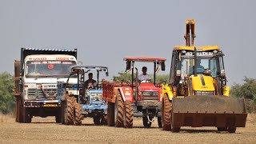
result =
[[65,77],[70,74],[70,66],[74,65],[76,65],[75,61],[28,61],[26,62],[26,77]]

